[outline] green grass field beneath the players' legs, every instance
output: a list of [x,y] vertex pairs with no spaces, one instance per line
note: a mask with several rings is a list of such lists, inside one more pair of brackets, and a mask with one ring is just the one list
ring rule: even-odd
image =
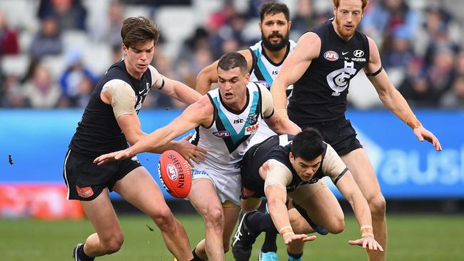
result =
[[[194,245],[204,235],[198,215],[178,216]],[[122,249],[114,255],[97,260],[156,260],[171,261],[161,235],[150,231],[146,224],[155,225],[143,216],[122,216],[125,234]],[[0,260],[72,260],[71,250],[76,242],[91,234],[87,220],[46,222],[39,220],[0,220]],[[464,216],[388,215],[388,260],[464,260]],[[308,242],[303,260],[366,260],[360,247],[348,245],[358,239],[358,225],[353,217],[346,220],[346,229],[339,235],[319,236]],[[257,260],[262,236],[253,247],[251,260]],[[280,260],[286,260],[279,239]],[[231,252],[226,260],[233,260]]]

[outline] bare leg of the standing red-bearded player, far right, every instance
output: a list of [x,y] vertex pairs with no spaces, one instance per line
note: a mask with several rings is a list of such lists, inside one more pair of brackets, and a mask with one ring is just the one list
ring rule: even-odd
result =
[[372,225],[374,237],[383,247],[383,252],[368,251],[368,257],[371,261],[383,261],[386,257],[387,250],[387,222],[385,218],[385,198],[380,192],[377,177],[374,169],[370,164],[368,156],[362,148],[351,151],[343,155],[343,162],[350,170],[358,187],[368,201],[370,215],[372,215]]

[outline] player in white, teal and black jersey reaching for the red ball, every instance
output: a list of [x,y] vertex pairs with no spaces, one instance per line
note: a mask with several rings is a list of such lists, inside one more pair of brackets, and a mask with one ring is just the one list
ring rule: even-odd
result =
[[238,162],[246,153],[251,136],[264,119],[276,133],[301,131],[286,117],[273,114],[271,93],[249,83],[246,59],[236,52],[219,59],[219,88],[188,106],[171,123],[150,133],[126,150],[101,155],[99,165],[137,153],[153,151],[196,128],[194,140],[207,151],[206,160],[192,171],[188,200],[203,216],[206,238],[193,250],[194,260],[225,260],[240,212],[241,178]]

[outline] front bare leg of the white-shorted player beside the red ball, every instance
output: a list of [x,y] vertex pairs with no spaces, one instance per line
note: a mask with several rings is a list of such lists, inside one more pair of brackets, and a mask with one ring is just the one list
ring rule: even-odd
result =
[[196,246],[196,255],[203,260],[225,260],[223,247],[224,213],[216,188],[211,180],[206,178],[193,180],[188,200],[205,222],[205,240]]

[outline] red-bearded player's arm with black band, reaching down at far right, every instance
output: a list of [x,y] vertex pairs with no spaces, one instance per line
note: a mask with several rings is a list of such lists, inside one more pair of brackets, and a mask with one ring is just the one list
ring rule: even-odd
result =
[[385,104],[385,106],[393,114],[395,114],[395,116],[400,118],[401,121],[410,126],[410,128],[413,129],[415,136],[420,141],[427,140],[432,143],[433,147],[437,151],[442,150],[438,138],[422,126],[420,121],[418,121],[415,117],[405,98],[393,86],[393,83],[391,83],[387,73],[385,73],[385,70],[382,68],[377,45],[372,39],[368,38],[368,40],[370,58],[369,63],[365,68],[365,72],[369,81],[375,87],[375,91],[377,91],[382,103]]

